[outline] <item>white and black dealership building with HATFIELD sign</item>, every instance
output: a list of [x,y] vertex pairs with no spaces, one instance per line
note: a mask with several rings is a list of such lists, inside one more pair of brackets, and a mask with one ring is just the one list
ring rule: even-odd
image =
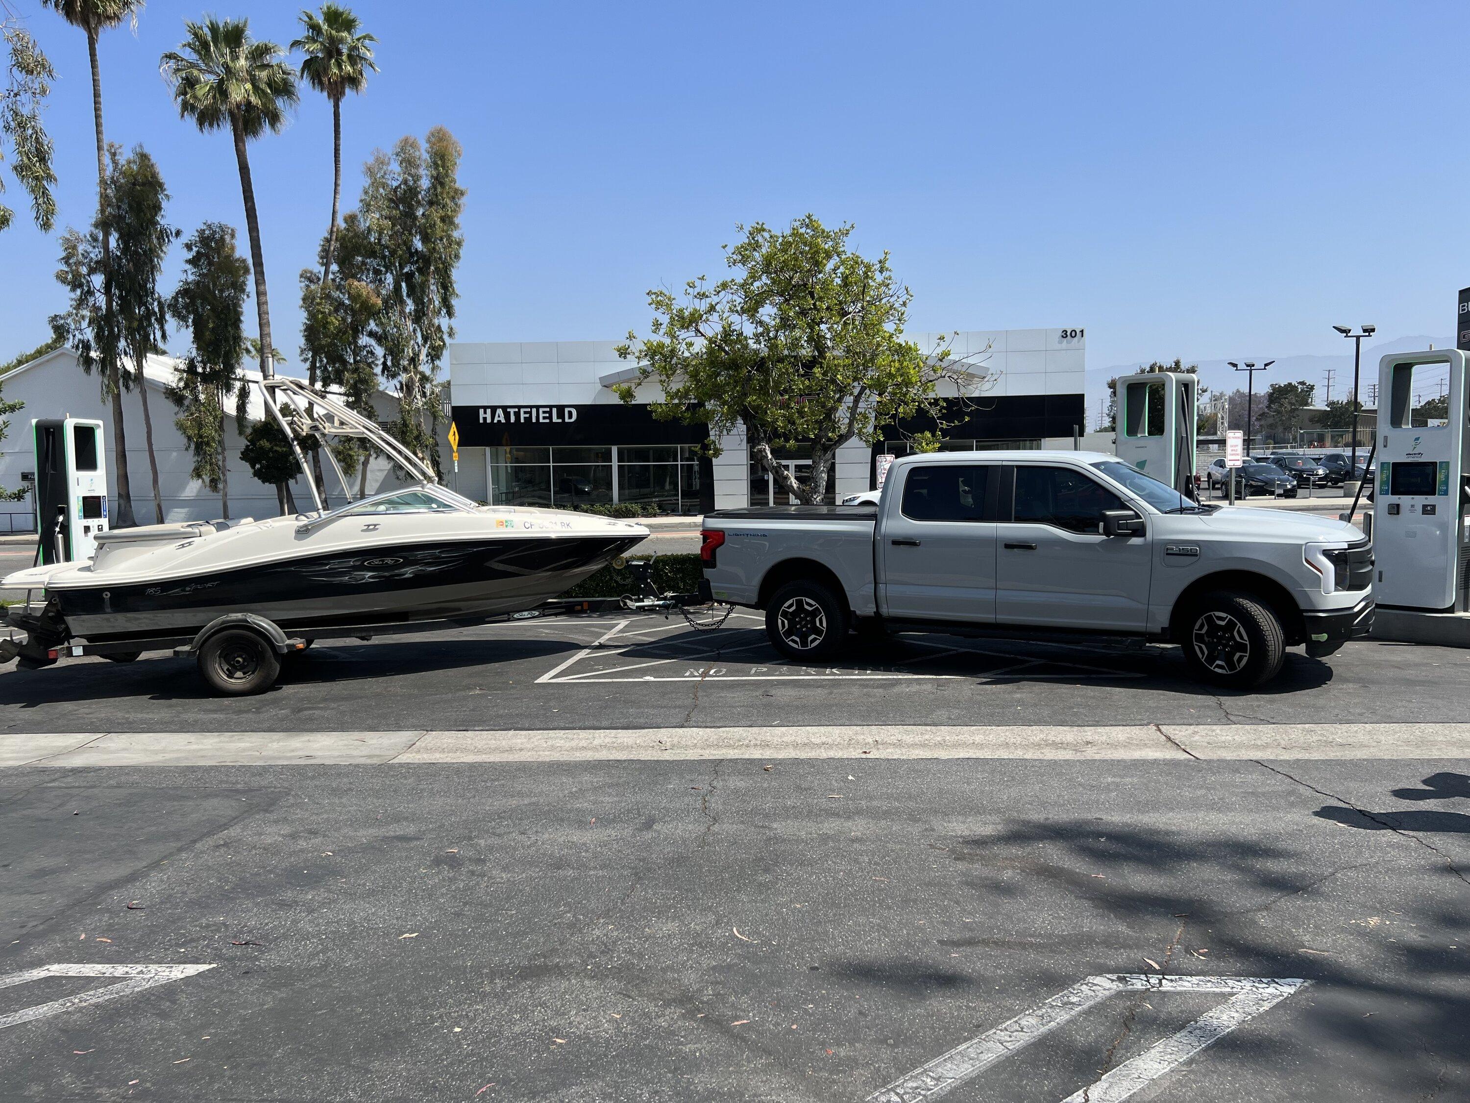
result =
[[[942,334],[911,334],[935,349]],[[785,493],[751,460],[742,432],[717,440],[720,454],[698,453],[709,428],[659,421],[648,409],[654,384],[625,404],[613,391],[637,379],[619,359],[619,341],[539,341],[450,346],[450,403],[459,429],[462,494],[494,504],[573,507],[641,503],[662,513],[704,513],[738,506],[786,504]],[[963,374],[948,385],[945,449],[1070,447],[1085,431],[1083,329],[1001,329],[950,335]],[[963,391],[963,394],[961,394]],[[904,432],[888,426],[873,446],[838,450],[826,497],[870,490],[879,454],[907,453]],[[810,462],[781,459],[800,479]]]

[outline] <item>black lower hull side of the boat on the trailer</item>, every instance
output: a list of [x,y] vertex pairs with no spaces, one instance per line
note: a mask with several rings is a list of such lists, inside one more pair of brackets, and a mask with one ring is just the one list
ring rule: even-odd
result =
[[495,616],[532,609],[641,537],[567,535],[384,544],[165,582],[49,591],[90,643],[188,635],[248,612],[287,631]]

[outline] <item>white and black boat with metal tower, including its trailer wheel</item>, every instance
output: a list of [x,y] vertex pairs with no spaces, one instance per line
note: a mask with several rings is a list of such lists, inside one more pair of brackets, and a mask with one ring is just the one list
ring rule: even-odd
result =
[[[303,471],[301,440],[345,435],[369,440],[422,481],[325,510],[306,479],[313,512],[103,532],[90,560],[0,581],[32,596],[7,610],[25,637],[0,640],[0,662],[38,668],[62,653],[126,662],[175,649],[197,654],[216,690],[259,693],[275,681],[279,654],[315,638],[532,610],[648,535],[591,513],[481,506],[441,487],[419,457],[332,397],[285,378],[260,388]],[[345,491],[331,449],[320,454]]]

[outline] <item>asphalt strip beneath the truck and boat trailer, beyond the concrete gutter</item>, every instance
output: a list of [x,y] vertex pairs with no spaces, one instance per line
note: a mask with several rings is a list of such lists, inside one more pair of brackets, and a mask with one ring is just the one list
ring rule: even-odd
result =
[[1455,722],[1470,653],[1352,643],[1288,654],[1254,693],[1211,691],[1177,649],[903,635],[826,668],[785,663],[761,621],[584,616],[320,643],[245,700],[188,659],[66,659],[0,675],[0,731],[563,729],[767,725]]

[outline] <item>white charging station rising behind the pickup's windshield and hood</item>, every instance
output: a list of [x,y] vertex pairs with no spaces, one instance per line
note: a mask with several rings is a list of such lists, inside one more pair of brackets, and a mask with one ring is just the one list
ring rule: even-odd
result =
[[1194,499],[1200,379],[1189,372],[1125,375],[1116,396],[1117,457]]

